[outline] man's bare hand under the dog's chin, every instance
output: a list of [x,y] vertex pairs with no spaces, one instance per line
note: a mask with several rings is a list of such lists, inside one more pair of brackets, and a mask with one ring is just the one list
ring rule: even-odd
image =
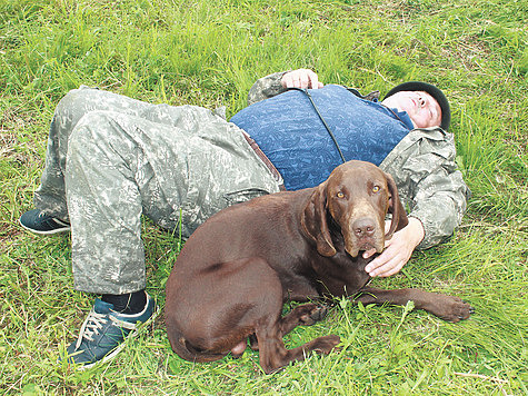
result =
[[[388,277],[400,271],[407,264],[412,250],[424,239],[425,230],[421,221],[417,218],[409,217],[407,227],[395,232],[391,239],[385,241],[385,250],[370,261],[365,270],[371,277]],[[363,258],[369,258],[376,253],[371,249],[363,253]]]

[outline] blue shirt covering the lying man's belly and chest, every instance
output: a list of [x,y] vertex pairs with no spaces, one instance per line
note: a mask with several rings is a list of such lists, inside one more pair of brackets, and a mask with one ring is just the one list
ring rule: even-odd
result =
[[[309,92],[346,160],[379,166],[414,128],[407,113],[361,99],[345,87],[327,85]],[[289,190],[319,185],[342,162],[308,96],[300,90],[253,103],[230,121],[257,141]]]

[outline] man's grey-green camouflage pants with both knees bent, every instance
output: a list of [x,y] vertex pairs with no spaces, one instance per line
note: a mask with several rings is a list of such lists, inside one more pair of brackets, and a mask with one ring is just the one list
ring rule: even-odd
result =
[[58,105],[34,205],[71,222],[74,287],[145,288],[140,217],[185,236],[218,210],[276,192],[241,130],[210,110],[81,89]]

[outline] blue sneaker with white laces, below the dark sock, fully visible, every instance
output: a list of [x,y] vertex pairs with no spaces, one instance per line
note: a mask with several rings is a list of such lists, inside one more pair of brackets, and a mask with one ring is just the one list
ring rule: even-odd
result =
[[112,304],[96,299],[77,341],[68,347],[66,359],[68,363],[80,365],[79,369],[110,360],[122,349],[127,336],[133,336],[139,327],[156,317],[155,306],[155,300],[147,294],[143,310],[126,315],[112,310]]

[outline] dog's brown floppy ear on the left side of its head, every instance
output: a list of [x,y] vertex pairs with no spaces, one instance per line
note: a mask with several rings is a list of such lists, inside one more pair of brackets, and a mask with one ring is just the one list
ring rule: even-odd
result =
[[321,256],[331,257],[337,250],[330,238],[327,221],[326,182],[315,188],[308,204],[301,214],[301,226],[306,234],[313,239],[317,251]]

